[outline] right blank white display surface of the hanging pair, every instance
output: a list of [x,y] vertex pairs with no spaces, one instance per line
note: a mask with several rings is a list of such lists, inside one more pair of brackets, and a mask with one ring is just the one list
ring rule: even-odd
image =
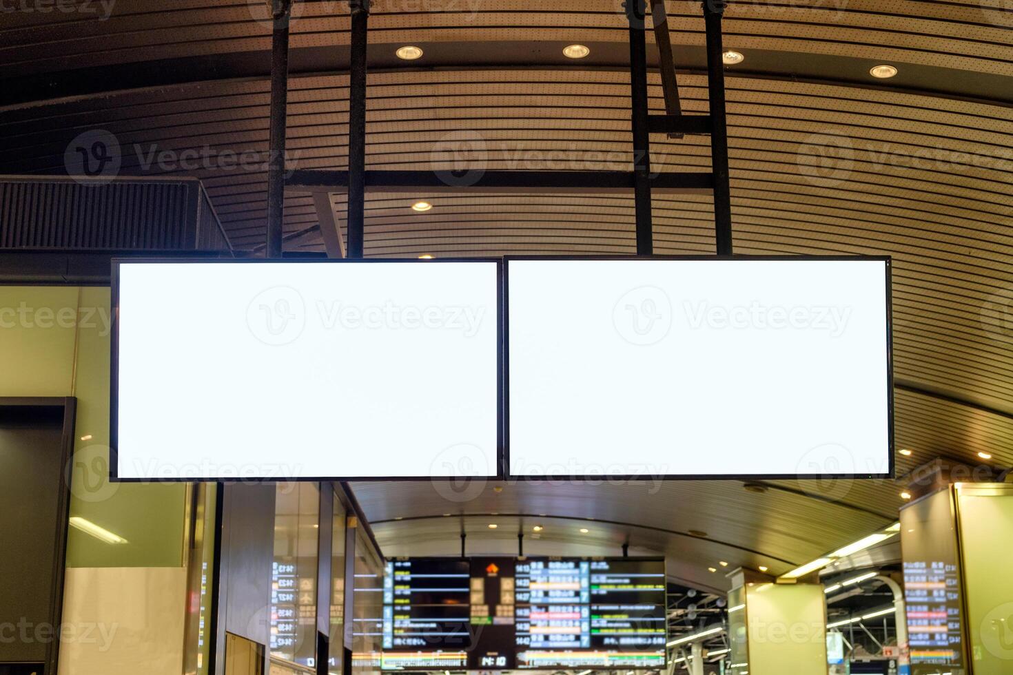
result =
[[508,260],[513,476],[883,476],[885,260]]

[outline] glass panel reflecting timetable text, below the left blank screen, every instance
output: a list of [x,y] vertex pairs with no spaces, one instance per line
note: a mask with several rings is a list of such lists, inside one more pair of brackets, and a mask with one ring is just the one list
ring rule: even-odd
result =
[[316,483],[279,483],[271,566],[270,656],[312,668],[316,657]]

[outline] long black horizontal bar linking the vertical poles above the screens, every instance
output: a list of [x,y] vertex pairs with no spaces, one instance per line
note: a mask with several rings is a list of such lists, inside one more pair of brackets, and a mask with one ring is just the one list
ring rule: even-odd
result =
[[[666,172],[650,177],[657,194],[707,194],[710,173]],[[296,169],[286,181],[288,192],[344,192],[348,172]],[[367,192],[517,192],[521,194],[625,194],[633,190],[632,171],[366,171]]]

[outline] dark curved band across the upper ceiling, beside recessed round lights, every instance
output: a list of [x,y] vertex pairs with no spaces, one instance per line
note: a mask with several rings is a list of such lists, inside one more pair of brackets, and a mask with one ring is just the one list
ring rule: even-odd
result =
[[[426,52],[427,69],[476,70],[587,70],[629,71],[628,46],[621,43],[592,43],[592,54],[579,65],[570,60],[547,58],[531,43],[453,43],[434,46]],[[411,72],[393,56],[393,47],[375,44],[369,70]],[[392,49],[386,49],[391,47]],[[674,46],[679,74],[706,75],[705,49]],[[388,54],[389,53],[389,54]],[[293,48],[289,71],[292,79],[323,75],[346,75],[347,46]],[[647,66],[658,70],[659,55],[647,45]],[[871,81],[866,59],[803,52],[750,50],[744,64],[728,68],[729,78],[804,82],[808,84],[856,87],[868,90],[901,91],[990,105],[1013,107],[1013,78],[933,66],[906,64],[904,72],[888,81]],[[5,72],[9,73],[7,69]],[[238,52],[224,55],[192,56],[136,63],[109,64],[51,73],[24,73],[0,79],[0,110],[30,108],[53,102],[101,98],[125,91],[159,91],[172,86],[204,87],[212,83],[244,80],[266,82],[270,73],[270,52]]]

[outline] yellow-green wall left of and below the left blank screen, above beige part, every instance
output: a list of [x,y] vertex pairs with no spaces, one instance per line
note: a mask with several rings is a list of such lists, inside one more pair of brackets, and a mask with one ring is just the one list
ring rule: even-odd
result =
[[[71,516],[127,539],[70,528],[68,567],[182,565],[183,484],[115,484],[108,475],[109,289],[0,286],[0,396],[75,396]],[[88,438],[88,436],[91,436]]]

